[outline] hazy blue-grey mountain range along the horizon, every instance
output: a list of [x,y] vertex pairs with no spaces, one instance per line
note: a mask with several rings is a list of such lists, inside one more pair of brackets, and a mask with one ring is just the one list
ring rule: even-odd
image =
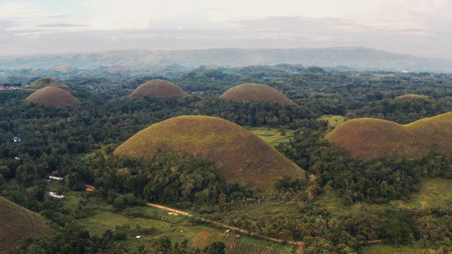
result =
[[[1,57],[0,69],[52,69],[70,66],[89,70],[102,66],[124,66],[143,70],[156,66],[249,66],[278,63],[302,64],[357,71],[427,71],[452,73],[452,60],[429,59],[408,54],[394,54],[365,47],[322,49],[201,49],[149,51],[131,49],[114,52]],[[56,67],[57,66],[57,67]],[[59,66],[59,67],[58,67]]]

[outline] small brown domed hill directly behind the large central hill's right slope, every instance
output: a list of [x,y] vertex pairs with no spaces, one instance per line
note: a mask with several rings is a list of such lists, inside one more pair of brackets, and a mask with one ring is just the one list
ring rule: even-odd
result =
[[262,84],[246,83],[230,88],[220,98],[231,100],[268,101],[283,105],[293,105],[291,99],[273,87]]

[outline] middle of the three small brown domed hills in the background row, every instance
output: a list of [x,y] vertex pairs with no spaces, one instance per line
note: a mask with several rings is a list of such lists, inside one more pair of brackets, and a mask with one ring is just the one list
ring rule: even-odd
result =
[[181,87],[167,80],[150,80],[136,88],[130,96],[135,99],[145,96],[167,99],[174,96],[186,97],[186,95],[186,92]]

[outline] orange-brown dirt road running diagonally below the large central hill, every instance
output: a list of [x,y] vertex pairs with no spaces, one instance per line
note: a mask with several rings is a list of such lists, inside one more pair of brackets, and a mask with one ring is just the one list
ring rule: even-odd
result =
[[[94,186],[90,186],[88,184],[85,184],[85,187],[90,189],[90,190],[94,190]],[[117,195],[121,195],[121,194],[117,193]],[[173,209],[171,207],[167,207],[165,205],[157,205],[157,204],[154,204],[154,203],[151,203],[151,202],[146,202],[146,205],[149,205],[149,206],[152,206],[152,207],[157,207],[157,208],[159,208],[161,210],[167,210],[168,212],[174,212],[174,213],[177,213],[177,214],[182,214],[182,215],[185,215],[187,217],[193,217],[193,214],[190,214],[188,212],[184,212],[184,211],[181,211],[181,210],[176,210],[176,209]],[[277,243],[283,243],[285,241],[284,239],[281,239],[281,238],[273,238],[273,237],[268,237],[268,236],[262,236],[260,234],[256,234],[254,232],[247,231],[245,229],[239,229],[236,226],[230,226],[230,225],[227,225],[227,224],[223,224],[221,222],[215,222],[215,221],[211,221],[209,219],[204,219],[204,218],[200,218],[200,219],[203,222],[208,222],[208,223],[214,224],[215,226],[221,226],[222,228],[225,228],[225,229],[231,229],[231,230],[235,230],[235,231],[239,231],[239,232],[244,232],[244,233],[249,234],[251,236],[257,236],[258,238],[263,238],[264,240],[274,241],[274,242],[277,242]],[[299,246],[299,249],[297,250],[297,253],[303,253],[304,243],[302,241],[287,241],[287,243]]]

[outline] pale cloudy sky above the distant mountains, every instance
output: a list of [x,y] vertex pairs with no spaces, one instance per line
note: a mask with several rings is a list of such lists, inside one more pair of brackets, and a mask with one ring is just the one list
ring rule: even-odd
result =
[[0,56],[370,47],[452,59],[452,0],[0,0]]

